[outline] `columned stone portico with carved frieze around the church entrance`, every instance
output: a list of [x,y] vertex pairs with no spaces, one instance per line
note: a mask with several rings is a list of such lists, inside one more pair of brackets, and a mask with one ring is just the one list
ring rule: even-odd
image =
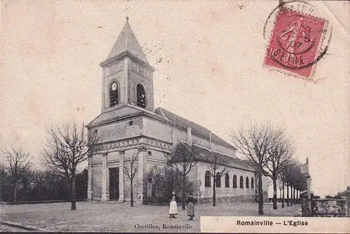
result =
[[[138,167],[138,171],[133,179],[133,192],[134,201],[141,202],[146,193],[144,174],[155,164],[166,165],[165,151],[169,153],[171,146],[168,142],[151,137],[134,137],[100,144],[99,151],[90,158],[90,172],[93,174],[90,186],[91,200],[130,201],[130,178],[124,171],[125,167],[130,167],[130,160],[137,156],[134,165]],[[116,177],[117,172],[118,177]],[[99,178],[100,181],[98,181]],[[101,191],[100,194],[98,191]]]

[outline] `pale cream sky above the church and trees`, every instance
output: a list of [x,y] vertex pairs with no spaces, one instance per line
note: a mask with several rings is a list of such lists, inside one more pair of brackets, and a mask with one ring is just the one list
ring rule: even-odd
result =
[[0,149],[22,147],[40,167],[50,125],[86,124],[100,113],[99,62],[128,16],[155,67],[155,107],[228,142],[241,125],[268,121],[281,126],[295,140],[295,158],[301,163],[309,158],[315,195],[344,191],[350,185],[349,2],[312,1],[333,26],[315,82],[263,65],[268,44],[263,26],[277,4],[1,1]]

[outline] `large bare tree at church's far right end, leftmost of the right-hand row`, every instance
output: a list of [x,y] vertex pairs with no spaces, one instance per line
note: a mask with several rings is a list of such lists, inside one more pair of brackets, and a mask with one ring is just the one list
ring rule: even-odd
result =
[[247,131],[241,128],[233,132],[231,137],[234,146],[250,160],[258,170],[258,214],[264,214],[262,175],[265,174],[265,165],[269,158],[269,147],[273,140],[273,131],[269,124],[251,125]]

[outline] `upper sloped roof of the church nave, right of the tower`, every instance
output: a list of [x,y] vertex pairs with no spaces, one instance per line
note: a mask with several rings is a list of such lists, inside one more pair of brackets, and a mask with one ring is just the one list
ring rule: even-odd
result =
[[[167,111],[166,109],[163,109],[161,107],[158,107],[157,109],[155,109],[155,113],[158,114],[159,116],[166,118],[167,120],[171,121],[172,123],[179,126],[180,128],[185,128],[185,129],[191,128],[192,133],[200,135],[204,139],[209,140],[209,136],[211,132],[209,129],[204,128],[201,125],[198,125],[197,123],[188,121],[186,118],[178,116],[175,113]],[[217,142],[218,144],[229,147],[231,149],[235,149],[234,146],[226,142],[224,139],[221,139],[220,137],[215,135],[213,132],[211,132],[211,141]]]

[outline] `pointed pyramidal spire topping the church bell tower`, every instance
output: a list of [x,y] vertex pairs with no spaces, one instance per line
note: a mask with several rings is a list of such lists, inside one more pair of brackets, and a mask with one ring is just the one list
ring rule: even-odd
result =
[[111,52],[109,53],[107,60],[126,51],[148,64],[146,55],[142,51],[142,48],[139,45],[139,42],[137,41],[134,32],[132,32],[132,28],[129,25],[128,16],[127,22],[125,22],[122,32],[120,32],[116,43],[114,43],[114,46]]

